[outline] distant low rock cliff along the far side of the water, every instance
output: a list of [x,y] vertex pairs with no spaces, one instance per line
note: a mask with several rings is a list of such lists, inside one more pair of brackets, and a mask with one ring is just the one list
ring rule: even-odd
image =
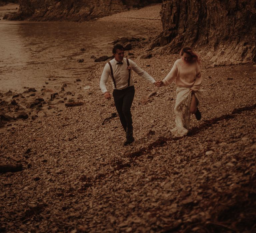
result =
[[30,21],[85,21],[120,12],[131,7],[142,7],[161,0],[20,0],[16,14],[9,20]]

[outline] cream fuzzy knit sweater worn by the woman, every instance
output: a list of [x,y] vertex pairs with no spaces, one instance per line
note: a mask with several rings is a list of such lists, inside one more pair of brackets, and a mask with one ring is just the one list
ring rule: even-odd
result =
[[[176,78],[176,79],[175,79]],[[201,71],[198,63],[185,63],[181,58],[178,59],[169,74],[164,78],[164,86],[170,85],[175,79],[178,87],[190,88],[198,91],[202,84]]]

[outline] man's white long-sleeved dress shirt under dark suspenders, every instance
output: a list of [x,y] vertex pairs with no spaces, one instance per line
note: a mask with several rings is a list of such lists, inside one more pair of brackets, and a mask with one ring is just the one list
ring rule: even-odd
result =
[[[110,61],[110,64],[113,69],[114,79],[116,83],[116,88],[111,76],[110,66],[107,63],[104,67],[104,70],[101,75],[100,79],[100,89],[103,93],[107,92],[106,83],[108,81],[108,77],[111,77],[111,83],[113,86],[113,89],[122,90],[128,87],[128,78],[129,78],[129,71],[127,69],[127,61],[126,58],[123,59],[123,64],[117,64],[117,61],[115,59],[112,59]],[[143,79],[150,83],[156,82],[147,72],[142,70],[140,67],[137,66],[135,62],[129,59],[129,64],[133,71],[135,71],[139,76],[141,76]],[[133,78],[132,78],[132,70],[131,70],[131,77],[130,77],[130,86],[134,85]]]

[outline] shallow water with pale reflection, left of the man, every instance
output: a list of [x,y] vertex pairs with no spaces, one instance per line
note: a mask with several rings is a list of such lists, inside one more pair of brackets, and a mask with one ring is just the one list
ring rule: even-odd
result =
[[[0,15],[4,15],[3,10]],[[111,42],[140,32],[115,30],[116,22],[20,22],[0,20],[0,92],[42,88],[49,78],[84,79],[96,64],[91,56],[111,56]],[[84,48],[85,51],[80,51]],[[78,63],[78,59],[84,59]]]

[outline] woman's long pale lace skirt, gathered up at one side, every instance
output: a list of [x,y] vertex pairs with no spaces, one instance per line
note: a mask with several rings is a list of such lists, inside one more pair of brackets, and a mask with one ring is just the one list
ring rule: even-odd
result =
[[[196,91],[194,94],[197,98],[198,105],[200,105],[200,98],[202,97],[202,88]],[[176,137],[185,136],[188,133],[190,126],[190,102],[191,102],[191,90],[190,88],[178,87],[176,90],[176,102],[174,107],[175,124],[176,127],[171,129],[171,132]]]

